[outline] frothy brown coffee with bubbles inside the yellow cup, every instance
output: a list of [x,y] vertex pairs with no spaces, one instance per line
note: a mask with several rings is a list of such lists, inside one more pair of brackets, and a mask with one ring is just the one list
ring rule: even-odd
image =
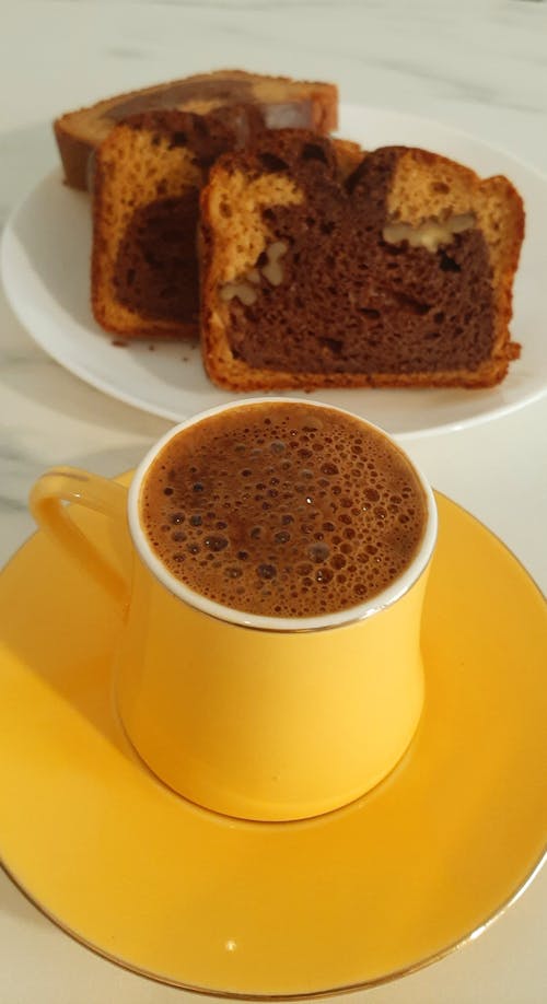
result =
[[427,502],[381,432],[294,401],[231,408],[182,430],[144,478],[153,551],[189,588],[270,617],[365,603],[410,564]]

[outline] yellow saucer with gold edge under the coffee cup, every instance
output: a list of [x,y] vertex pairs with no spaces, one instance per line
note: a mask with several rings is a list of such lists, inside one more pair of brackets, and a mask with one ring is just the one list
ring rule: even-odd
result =
[[43,534],[22,548],[0,576],[0,854],[48,917],[164,982],[296,996],[422,966],[516,896],[547,828],[545,607],[438,501],[418,734],[372,793],[307,822],[221,818],[154,780],[114,713],[118,616]]

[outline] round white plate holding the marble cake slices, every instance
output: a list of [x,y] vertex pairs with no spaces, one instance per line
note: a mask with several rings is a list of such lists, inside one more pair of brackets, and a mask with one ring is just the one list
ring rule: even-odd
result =
[[[511,178],[527,213],[512,324],[523,352],[505,381],[489,390],[352,389],[314,396],[399,437],[461,429],[542,397],[547,389],[547,178],[479,139],[396,112],[342,105],[340,133],[369,150],[391,143],[424,147],[481,175]],[[151,351],[148,341],[127,348],[113,343],[90,310],[90,243],[89,198],[62,185],[58,171],[44,178],[9,220],[2,242],[3,282],[13,311],[35,341],[106,394],[174,421],[233,399],[235,395],[208,381],[195,347],[155,342]]]

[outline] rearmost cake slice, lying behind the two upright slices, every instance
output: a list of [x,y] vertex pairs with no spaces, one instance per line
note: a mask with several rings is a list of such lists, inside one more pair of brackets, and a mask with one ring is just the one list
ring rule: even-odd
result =
[[177,108],[203,114],[226,104],[256,105],[269,129],[336,129],[338,92],[335,84],[264,77],[243,70],[218,70],[144,87],[68,112],[54,122],[67,185],[89,187],[90,154],[117,122],[143,112]]

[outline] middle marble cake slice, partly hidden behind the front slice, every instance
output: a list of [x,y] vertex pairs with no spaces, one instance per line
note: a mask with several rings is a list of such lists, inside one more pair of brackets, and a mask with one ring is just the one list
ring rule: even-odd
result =
[[95,155],[91,302],[124,338],[199,334],[199,191],[214,160],[264,129],[253,105],[149,112],[117,125]]

